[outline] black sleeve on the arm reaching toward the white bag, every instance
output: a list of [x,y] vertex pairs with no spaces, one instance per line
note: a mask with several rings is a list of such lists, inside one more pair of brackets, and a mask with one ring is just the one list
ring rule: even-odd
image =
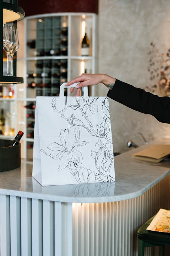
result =
[[107,96],[131,109],[153,115],[159,122],[170,124],[169,97],[158,97],[117,79]]

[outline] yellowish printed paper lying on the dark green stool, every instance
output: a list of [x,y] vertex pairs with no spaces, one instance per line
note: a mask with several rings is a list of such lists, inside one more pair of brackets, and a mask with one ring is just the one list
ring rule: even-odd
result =
[[170,211],[160,209],[147,230],[170,233]]

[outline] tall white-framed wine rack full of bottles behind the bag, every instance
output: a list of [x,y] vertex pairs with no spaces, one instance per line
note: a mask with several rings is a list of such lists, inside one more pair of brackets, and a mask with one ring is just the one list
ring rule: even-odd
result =
[[[90,41],[89,56],[81,56],[84,23]],[[35,104],[36,97],[59,96],[62,83],[83,72],[97,72],[96,14],[53,13],[30,16],[24,19],[21,30],[24,31],[19,33],[25,34],[25,49],[17,63],[24,74],[25,83],[23,87],[17,87],[23,113],[23,120],[21,118],[18,122],[22,125],[23,121],[24,125],[22,157],[32,159],[35,109],[31,104]],[[91,89],[91,95],[95,96],[95,88]],[[66,88],[64,95],[68,96]]]

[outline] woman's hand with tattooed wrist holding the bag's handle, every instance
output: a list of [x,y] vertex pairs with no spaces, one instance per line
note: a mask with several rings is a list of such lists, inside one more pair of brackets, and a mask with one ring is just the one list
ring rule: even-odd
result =
[[[108,89],[112,89],[116,79],[106,75],[106,74],[86,74],[83,73],[78,77],[75,77],[70,82],[66,84],[69,86],[74,83],[79,83],[76,85],[77,88],[77,96],[80,96],[81,87],[89,86],[89,85],[97,85],[99,83],[103,83]],[[70,88],[69,93],[72,93],[74,88]]]

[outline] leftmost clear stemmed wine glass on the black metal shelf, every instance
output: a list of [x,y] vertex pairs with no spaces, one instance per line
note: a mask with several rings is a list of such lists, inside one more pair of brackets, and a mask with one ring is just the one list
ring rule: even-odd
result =
[[6,34],[7,44],[5,44],[3,46],[3,49],[7,53],[7,75],[10,75],[10,71],[9,71],[9,56],[10,56],[11,50],[15,46],[16,35],[15,35],[14,26],[7,25],[6,29],[7,29],[7,34]]

